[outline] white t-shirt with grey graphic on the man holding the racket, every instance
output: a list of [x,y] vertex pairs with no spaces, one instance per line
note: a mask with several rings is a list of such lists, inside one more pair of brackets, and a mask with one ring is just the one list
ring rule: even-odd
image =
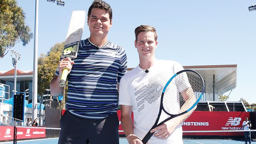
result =
[[[155,60],[154,66],[145,70],[137,66],[125,74],[120,80],[119,102],[120,105],[132,106],[134,114],[134,134],[144,138],[154,125],[163,88],[168,80],[183,67],[175,61]],[[179,104],[177,103],[177,106]],[[162,112],[159,122],[169,116]],[[181,124],[165,140],[152,136],[148,144],[182,144]]]

